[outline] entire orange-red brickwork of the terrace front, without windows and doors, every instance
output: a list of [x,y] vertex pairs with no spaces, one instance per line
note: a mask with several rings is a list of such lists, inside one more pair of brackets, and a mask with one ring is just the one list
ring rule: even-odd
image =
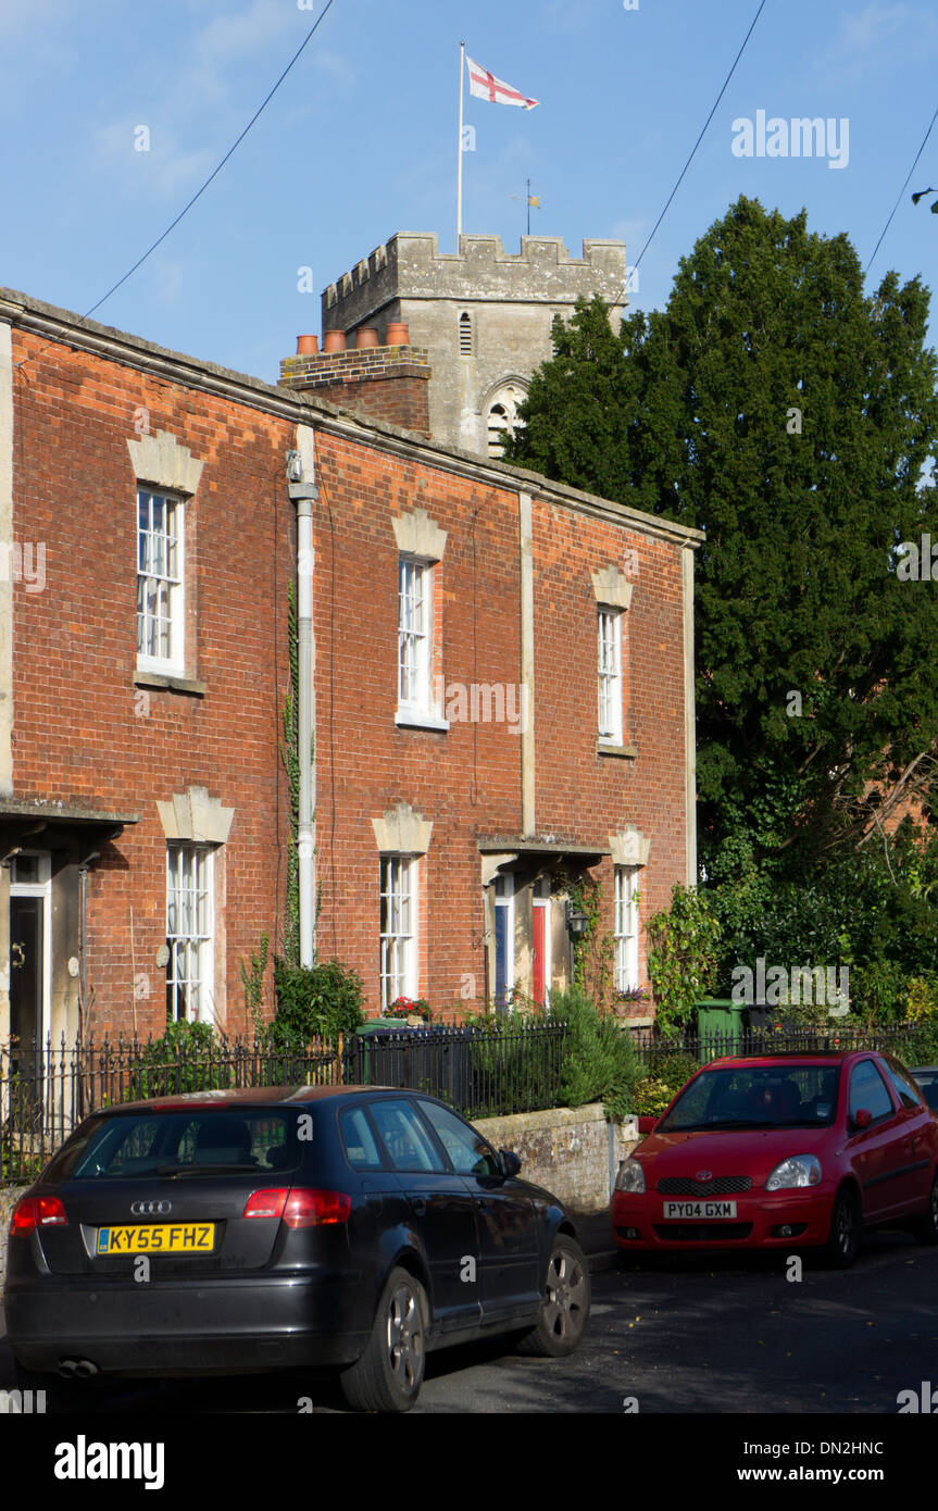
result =
[[[378,1009],[373,820],[406,804],[432,823],[420,860],[420,994],[434,1008],[479,1006],[486,994],[492,941],[480,843],[506,836],[511,849],[511,837],[521,836],[523,740],[511,715],[473,713],[471,689],[500,688],[508,700],[521,683],[526,487],[533,491],[536,837],[548,849],[598,852],[622,827],[637,827],[651,839],[642,916],[665,905],[686,875],[681,547],[615,509],[586,508],[572,493],[557,497],[508,468],[473,467],[405,435],[295,405],[287,388],[239,379],[239,394],[254,384],[255,402],[205,391],[186,382],[189,360],[163,355],[178,376],[147,370],[148,354],[128,349],[118,360],[14,329],[14,360],[29,358],[15,382],[15,538],[45,544],[47,574],[42,592],[15,598],[14,790],[140,814],[89,872],[88,1026],[98,1034],[162,1029],[166,836],[157,801],[189,787],[205,787],[234,810],[216,875],[214,1003],[230,1031],[246,1026],[240,961],[263,931],[279,947],[288,836],[279,739],[287,592],[296,577],[285,453],[298,444],[301,420],[316,431],[319,484],[320,958],[358,970],[367,1005]],[[341,361],[352,372],[373,355],[349,352]],[[308,378],[323,360],[290,361]],[[426,390],[423,378],[415,381]],[[272,413],[278,408],[285,413]],[[198,684],[189,692],[134,683],[136,477],[127,441],[142,428],[169,432],[204,464],[186,508],[186,672]],[[414,511],[446,532],[435,573],[435,669],[444,694],[464,694],[464,712],[446,730],[396,722],[394,520]],[[592,574],[625,564],[634,585],[624,615],[634,754],[624,757],[597,749]],[[604,882],[612,929],[612,861],[594,866],[594,875]],[[557,934],[554,952],[565,947]]]

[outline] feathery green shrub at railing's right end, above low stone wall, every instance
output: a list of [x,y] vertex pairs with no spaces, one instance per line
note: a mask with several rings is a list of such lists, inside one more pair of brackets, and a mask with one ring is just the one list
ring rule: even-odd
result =
[[633,1109],[639,1079],[628,1031],[598,1012],[582,987],[551,993],[550,1014],[566,1023],[559,1105],[601,1102],[607,1118],[624,1118]]

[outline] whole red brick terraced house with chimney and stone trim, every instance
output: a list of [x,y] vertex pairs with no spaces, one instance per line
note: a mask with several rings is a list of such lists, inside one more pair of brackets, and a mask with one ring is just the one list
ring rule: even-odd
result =
[[0,290],[0,1040],[246,1027],[298,583],[305,953],[372,1011],[542,996],[591,875],[646,979],[696,870],[699,535],[435,444],[426,354],[367,357],[272,385]]

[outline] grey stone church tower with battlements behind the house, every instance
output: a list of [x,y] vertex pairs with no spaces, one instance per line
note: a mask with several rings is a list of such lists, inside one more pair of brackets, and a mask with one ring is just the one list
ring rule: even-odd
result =
[[367,329],[387,348],[400,340],[388,326],[406,325],[429,358],[434,440],[498,456],[532,372],[553,355],[554,316],[568,320],[580,295],[598,293],[618,331],[625,280],[624,242],[583,242],[571,257],[556,236],[523,236],[520,252],[461,236],[459,252],[441,252],[435,234],[399,231],[323,292],[323,337],[341,331],[353,349]]

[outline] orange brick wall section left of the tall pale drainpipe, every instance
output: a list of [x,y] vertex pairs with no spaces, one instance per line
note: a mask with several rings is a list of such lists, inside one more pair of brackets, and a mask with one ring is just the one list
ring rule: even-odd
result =
[[[156,802],[196,784],[234,808],[218,867],[227,947],[216,950],[216,1003],[230,1029],[243,1027],[237,963],[264,929],[275,935],[285,881],[278,721],[296,568],[282,480],[295,431],[15,331],[14,360],[30,357],[15,388],[14,524],[18,539],[45,542],[47,583],[15,598],[15,792],[140,813],[89,872],[89,1026],[162,1031],[166,837]],[[186,541],[187,671],[204,697],[133,681],[134,417],[205,464]]]

